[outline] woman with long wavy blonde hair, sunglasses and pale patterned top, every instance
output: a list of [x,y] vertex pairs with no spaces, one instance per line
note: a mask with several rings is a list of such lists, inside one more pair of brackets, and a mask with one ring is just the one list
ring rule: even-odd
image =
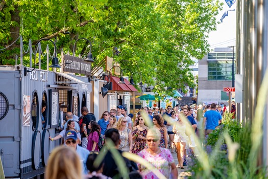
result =
[[120,136],[119,149],[125,152],[132,153],[132,135],[131,130],[127,127],[128,120],[125,117],[120,117],[116,124],[116,129]]

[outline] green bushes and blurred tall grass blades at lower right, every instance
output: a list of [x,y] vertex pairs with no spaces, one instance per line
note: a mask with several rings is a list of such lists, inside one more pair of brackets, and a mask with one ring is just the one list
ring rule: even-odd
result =
[[[263,79],[268,78],[267,72]],[[257,164],[257,160],[262,142],[262,120],[266,106],[263,96],[267,96],[267,93],[268,83],[262,82],[255,118],[251,125],[249,121],[241,126],[231,119],[230,114],[225,114],[224,126],[208,137],[205,148],[211,150],[210,153],[205,153],[198,140],[195,151],[198,157],[192,159],[189,165],[189,170],[192,172],[190,178],[266,178],[267,166]]]

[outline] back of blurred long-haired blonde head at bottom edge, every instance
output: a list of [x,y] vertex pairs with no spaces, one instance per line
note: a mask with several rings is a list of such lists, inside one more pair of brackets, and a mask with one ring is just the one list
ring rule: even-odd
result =
[[82,166],[76,151],[63,146],[55,148],[45,167],[45,179],[82,179]]

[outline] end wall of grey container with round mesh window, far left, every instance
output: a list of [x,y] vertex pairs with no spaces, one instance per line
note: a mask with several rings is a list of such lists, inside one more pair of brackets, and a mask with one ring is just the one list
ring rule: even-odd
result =
[[20,74],[0,74],[0,156],[6,177],[19,176]]

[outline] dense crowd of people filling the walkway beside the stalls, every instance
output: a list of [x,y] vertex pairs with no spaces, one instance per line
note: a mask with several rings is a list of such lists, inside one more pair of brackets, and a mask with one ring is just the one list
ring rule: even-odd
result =
[[[160,110],[158,107],[144,107],[133,119],[134,115],[128,114],[127,108],[119,105],[117,109],[104,111],[98,122],[86,107],[81,109],[83,116],[80,119],[67,112],[64,130],[58,136],[50,137],[51,141],[63,138],[65,147],[52,152],[45,178],[121,178],[119,164],[114,159],[111,146],[106,145],[107,140],[112,141],[112,148],[122,156],[130,178],[158,177],[143,163],[125,158],[123,152],[140,156],[166,178],[177,178],[177,169],[183,169],[187,165],[186,150],[188,149],[189,157],[194,157],[196,142],[193,133],[201,138],[215,130],[225,114],[222,108],[224,106],[215,103],[181,108],[167,106]],[[99,152],[104,152],[105,156],[95,165]],[[174,152],[177,152],[177,166],[172,156]],[[59,162],[64,164],[55,167]],[[76,169],[70,173],[69,167]],[[74,175],[76,176],[72,177]]]

